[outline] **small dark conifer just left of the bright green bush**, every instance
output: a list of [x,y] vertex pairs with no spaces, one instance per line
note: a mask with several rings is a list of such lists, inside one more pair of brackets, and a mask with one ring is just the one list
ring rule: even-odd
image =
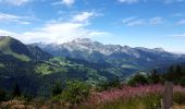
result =
[[62,93],[62,86],[60,82],[55,82],[53,89],[52,89],[52,96],[60,95]]

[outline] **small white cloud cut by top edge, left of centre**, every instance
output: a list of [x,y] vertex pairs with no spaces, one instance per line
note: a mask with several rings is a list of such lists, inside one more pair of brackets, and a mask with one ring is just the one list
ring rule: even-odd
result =
[[75,3],[75,0],[60,0],[57,2],[51,3],[52,5],[58,5],[58,4],[65,4],[67,7],[71,7],[72,4]]

